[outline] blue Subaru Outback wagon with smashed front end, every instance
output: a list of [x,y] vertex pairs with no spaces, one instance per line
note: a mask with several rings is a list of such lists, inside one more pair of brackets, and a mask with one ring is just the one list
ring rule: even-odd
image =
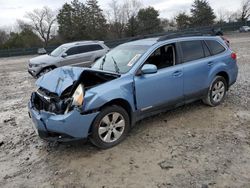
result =
[[236,54],[216,36],[148,38],[122,44],[91,68],[40,77],[29,114],[44,139],[120,143],[136,121],[195,100],[219,105],[238,74]]

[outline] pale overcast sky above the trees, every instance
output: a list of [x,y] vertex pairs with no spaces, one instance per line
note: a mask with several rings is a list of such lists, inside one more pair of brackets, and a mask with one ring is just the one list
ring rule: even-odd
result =
[[[85,0],[80,0],[85,2]],[[118,0],[122,2],[123,0]],[[188,11],[194,0],[141,0],[144,7],[153,6],[162,18],[172,18],[178,12]],[[23,19],[27,11],[48,6],[58,10],[65,2],[71,0],[0,0],[0,27],[13,26],[16,19]],[[110,0],[98,0],[102,9],[108,9]],[[236,11],[241,0],[208,0],[217,13],[219,10]]]

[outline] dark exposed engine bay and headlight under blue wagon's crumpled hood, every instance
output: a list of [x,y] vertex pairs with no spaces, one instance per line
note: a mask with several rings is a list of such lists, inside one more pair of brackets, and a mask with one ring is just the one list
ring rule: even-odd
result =
[[[66,114],[74,107],[82,106],[84,94],[87,90],[116,79],[119,76],[118,74],[107,72],[83,70],[79,78],[62,91],[61,95],[40,87],[36,92],[32,93],[31,103],[38,111],[44,110],[55,114]],[[61,77],[58,77],[59,79],[62,80]],[[53,80],[53,82],[55,81]]]

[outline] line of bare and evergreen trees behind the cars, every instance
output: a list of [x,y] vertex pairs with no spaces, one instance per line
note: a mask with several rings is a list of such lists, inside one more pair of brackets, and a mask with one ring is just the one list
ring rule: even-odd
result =
[[[237,12],[220,11],[216,17],[207,0],[194,0],[189,12],[161,19],[159,11],[139,0],[111,0],[102,10],[97,0],[73,0],[58,12],[48,7],[27,12],[27,21],[17,20],[17,29],[0,30],[0,48],[58,45],[77,40],[109,40],[159,33],[166,30],[212,26],[216,22],[245,22],[250,18],[250,0],[242,0]],[[228,16],[226,16],[228,15]]]

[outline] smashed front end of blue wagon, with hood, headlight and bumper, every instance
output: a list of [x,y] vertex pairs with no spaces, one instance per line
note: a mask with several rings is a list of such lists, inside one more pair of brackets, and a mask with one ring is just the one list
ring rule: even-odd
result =
[[85,111],[85,92],[118,77],[87,68],[62,67],[39,78],[39,89],[29,102],[29,114],[39,136],[50,140],[86,138],[99,112]]

